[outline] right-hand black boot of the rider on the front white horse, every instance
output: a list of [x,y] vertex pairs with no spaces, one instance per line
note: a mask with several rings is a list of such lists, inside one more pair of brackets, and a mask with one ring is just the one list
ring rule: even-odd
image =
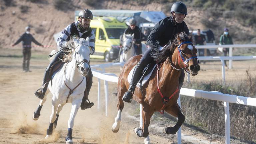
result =
[[90,89],[92,87],[92,71],[91,71],[91,68],[88,72],[88,75],[86,76],[86,88],[85,88],[85,91],[84,91],[84,97],[82,99],[82,103],[81,103],[81,110],[85,110],[87,108],[91,108],[94,103],[93,102],[90,102],[89,99],[88,99],[88,95],[89,95],[89,92],[90,92]]

